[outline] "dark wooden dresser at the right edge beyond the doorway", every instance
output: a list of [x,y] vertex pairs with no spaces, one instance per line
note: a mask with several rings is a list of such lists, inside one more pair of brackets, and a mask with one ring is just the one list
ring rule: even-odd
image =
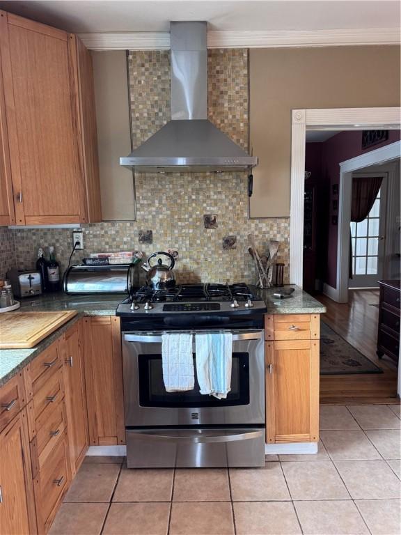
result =
[[379,281],[379,327],[377,355],[398,362],[400,352],[400,281]]

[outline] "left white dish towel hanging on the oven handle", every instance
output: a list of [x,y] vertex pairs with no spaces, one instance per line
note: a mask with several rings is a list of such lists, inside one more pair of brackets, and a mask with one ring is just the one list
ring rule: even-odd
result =
[[194,389],[194,357],[192,334],[162,334],[163,380],[166,391]]

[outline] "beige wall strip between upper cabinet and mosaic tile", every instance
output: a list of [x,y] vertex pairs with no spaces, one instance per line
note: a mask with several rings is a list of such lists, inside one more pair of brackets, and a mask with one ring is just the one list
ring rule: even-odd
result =
[[134,177],[120,166],[131,152],[125,50],[92,52],[103,221],[136,219]]

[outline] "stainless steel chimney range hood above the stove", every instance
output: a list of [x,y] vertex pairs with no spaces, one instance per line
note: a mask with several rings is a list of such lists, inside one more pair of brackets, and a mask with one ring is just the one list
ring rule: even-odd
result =
[[171,22],[171,121],[120,165],[136,172],[242,171],[258,164],[207,120],[206,22]]

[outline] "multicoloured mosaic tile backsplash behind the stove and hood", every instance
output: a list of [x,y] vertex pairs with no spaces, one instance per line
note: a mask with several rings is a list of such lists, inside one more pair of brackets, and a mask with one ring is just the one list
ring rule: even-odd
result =
[[[133,146],[138,146],[170,119],[170,54],[130,52],[129,91]],[[208,53],[208,114],[233,141],[248,146],[248,52],[214,49]],[[83,226],[84,251],[139,249],[178,251],[175,272],[180,282],[254,283],[255,267],[247,248],[252,233],[260,252],[268,240],[281,242],[278,262],[285,263],[288,282],[290,220],[248,219],[246,173],[171,173],[136,176],[136,222]],[[205,215],[217,225],[205,228]],[[213,221],[212,221],[213,222]],[[15,264],[31,269],[38,247],[54,245],[65,269],[72,247],[71,228],[0,229],[0,272]],[[151,241],[151,243],[150,243]],[[230,245],[230,247],[227,247]],[[0,273],[1,276],[1,273]]]

